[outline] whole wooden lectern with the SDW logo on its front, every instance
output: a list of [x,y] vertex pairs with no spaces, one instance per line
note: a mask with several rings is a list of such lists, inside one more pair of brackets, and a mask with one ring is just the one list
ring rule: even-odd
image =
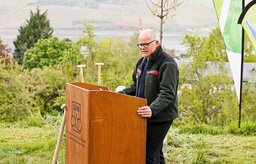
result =
[[66,83],[66,164],[145,164],[147,101],[107,89]]

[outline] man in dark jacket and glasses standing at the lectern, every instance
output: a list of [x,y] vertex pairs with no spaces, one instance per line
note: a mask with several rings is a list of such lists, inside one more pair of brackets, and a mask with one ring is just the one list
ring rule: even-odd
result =
[[134,69],[133,84],[119,93],[147,99],[148,106],[137,110],[147,118],[146,164],[164,164],[163,139],[178,117],[179,70],[175,60],[163,51],[156,31],[141,31],[138,47],[143,57]]

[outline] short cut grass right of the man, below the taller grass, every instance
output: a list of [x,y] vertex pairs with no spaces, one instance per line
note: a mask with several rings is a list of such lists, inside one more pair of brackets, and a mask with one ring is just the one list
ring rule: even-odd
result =
[[256,137],[169,131],[168,164],[254,164]]

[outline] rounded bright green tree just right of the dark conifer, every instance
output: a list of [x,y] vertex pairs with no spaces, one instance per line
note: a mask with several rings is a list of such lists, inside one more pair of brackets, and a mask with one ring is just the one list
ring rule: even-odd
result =
[[58,64],[77,65],[82,59],[76,45],[67,42],[65,39],[58,40],[57,37],[51,39],[40,39],[35,45],[24,54],[24,68],[44,68]]

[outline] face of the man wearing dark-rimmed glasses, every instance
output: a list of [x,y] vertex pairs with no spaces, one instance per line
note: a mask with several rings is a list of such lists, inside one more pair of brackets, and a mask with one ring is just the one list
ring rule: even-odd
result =
[[148,32],[141,33],[139,36],[139,44],[143,43],[149,43],[148,48],[145,48],[142,46],[140,48],[140,52],[143,55],[143,57],[150,58],[150,55],[157,49],[159,42],[151,40],[150,34]]

